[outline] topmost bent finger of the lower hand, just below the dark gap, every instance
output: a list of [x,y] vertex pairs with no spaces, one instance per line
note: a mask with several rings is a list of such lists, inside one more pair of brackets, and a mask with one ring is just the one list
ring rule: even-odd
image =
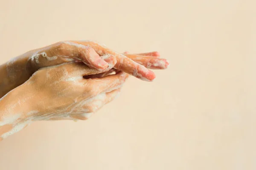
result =
[[91,87],[90,94],[88,95],[97,96],[102,92],[107,93],[116,90],[117,88],[120,88],[123,85],[123,83],[127,80],[128,77],[128,74],[126,74],[123,71],[120,71],[115,75],[109,75],[107,77],[102,77],[100,79],[86,79],[85,84]]

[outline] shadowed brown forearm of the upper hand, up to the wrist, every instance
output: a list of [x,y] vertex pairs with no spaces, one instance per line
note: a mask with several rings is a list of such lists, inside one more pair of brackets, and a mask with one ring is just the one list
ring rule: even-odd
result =
[[3,65],[0,65],[0,98],[12,89],[26,82],[32,75],[29,71],[28,55],[11,59]]

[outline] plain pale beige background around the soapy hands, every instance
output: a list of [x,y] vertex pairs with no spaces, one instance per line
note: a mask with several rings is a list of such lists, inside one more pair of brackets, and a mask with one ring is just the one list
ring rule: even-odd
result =
[[0,143],[1,170],[255,170],[254,0],[1,0],[0,63],[61,40],[158,50],[85,122],[35,122]]

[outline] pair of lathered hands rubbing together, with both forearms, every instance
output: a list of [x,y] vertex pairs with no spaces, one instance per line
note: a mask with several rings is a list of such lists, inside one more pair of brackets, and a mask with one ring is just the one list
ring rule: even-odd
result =
[[9,92],[0,99],[0,140],[35,120],[87,119],[119,94],[128,74],[151,81],[148,68],[168,65],[156,51],[119,54],[93,41],[29,51],[0,67],[0,97]]

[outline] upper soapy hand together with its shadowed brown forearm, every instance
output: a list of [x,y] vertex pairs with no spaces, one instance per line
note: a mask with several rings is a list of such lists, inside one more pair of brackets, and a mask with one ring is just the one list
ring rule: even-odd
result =
[[156,51],[120,54],[95,41],[62,41],[28,51],[0,65],[0,98],[26,82],[35,71],[47,66],[77,61],[102,71],[108,67],[102,58],[105,54],[116,57],[114,69],[145,81],[152,81],[155,78],[154,72],[148,68],[165,69],[169,65]]

